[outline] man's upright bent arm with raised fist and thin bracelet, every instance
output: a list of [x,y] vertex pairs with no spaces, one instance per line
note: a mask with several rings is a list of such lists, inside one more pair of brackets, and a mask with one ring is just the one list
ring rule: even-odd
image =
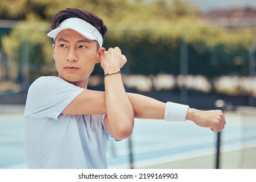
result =
[[[106,75],[119,71],[125,62],[126,57],[121,54],[118,47],[115,47],[104,53],[101,66]],[[134,129],[134,109],[124,89],[121,73],[107,75],[104,83],[107,112],[104,118],[105,127],[113,137],[126,138],[132,134]]]

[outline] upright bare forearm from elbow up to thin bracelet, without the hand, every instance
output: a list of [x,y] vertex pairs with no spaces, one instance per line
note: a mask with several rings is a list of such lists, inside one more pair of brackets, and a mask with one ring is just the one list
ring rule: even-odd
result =
[[105,98],[109,133],[115,138],[130,136],[134,127],[134,110],[120,73],[105,77]]

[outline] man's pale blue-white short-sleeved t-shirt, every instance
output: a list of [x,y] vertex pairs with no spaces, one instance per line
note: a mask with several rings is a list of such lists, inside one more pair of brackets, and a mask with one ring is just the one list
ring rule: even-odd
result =
[[28,168],[107,168],[104,114],[61,114],[83,90],[52,76],[29,87],[24,112]]

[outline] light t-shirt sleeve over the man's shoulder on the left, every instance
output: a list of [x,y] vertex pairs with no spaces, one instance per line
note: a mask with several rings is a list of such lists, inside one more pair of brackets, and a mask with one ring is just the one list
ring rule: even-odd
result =
[[54,118],[85,90],[59,77],[40,77],[29,87],[25,117]]

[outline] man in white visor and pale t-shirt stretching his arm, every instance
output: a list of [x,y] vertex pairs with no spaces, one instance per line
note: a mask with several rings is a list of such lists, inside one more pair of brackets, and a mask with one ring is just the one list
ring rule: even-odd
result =
[[[221,131],[221,110],[197,110],[126,93],[119,47],[102,47],[107,27],[91,12],[67,8],[53,17],[53,58],[58,77],[40,77],[30,86],[25,106],[28,168],[107,168],[109,137],[132,134],[134,118],[191,120]],[[105,92],[87,89],[94,65],[104,70]]]

